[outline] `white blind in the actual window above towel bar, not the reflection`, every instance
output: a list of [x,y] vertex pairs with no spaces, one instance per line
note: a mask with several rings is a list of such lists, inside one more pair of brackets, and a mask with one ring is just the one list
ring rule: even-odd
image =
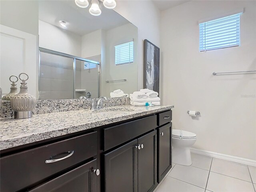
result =
[[240,13],[199,24],[199,50],[240,45]]

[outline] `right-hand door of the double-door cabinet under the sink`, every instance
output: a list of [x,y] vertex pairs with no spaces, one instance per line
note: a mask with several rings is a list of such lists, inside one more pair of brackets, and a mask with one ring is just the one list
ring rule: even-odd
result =
[[138,138],[138,191],[156,186],[156,130]]

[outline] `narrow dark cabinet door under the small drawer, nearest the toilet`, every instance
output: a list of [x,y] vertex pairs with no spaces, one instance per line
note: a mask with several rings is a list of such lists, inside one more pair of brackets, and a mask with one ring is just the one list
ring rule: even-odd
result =
[[172,123],[158,128],[158,183],[172,168]]

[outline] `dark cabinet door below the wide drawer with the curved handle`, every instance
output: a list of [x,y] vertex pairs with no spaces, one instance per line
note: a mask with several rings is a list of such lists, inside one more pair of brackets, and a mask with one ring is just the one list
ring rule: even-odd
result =
[[32,190],[32,192],[96,192],[96,159]]

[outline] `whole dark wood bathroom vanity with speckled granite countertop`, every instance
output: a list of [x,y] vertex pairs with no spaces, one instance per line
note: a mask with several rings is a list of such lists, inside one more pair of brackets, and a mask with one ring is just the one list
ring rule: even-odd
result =
[[172,167],[174,106],[0,120],[1,192],[148,192]]

